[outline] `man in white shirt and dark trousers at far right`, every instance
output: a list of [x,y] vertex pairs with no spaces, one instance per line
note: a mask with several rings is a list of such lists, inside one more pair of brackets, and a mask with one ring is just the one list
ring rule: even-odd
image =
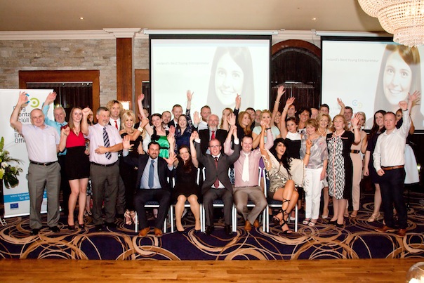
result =
[[403,124],[396,128],[396,114],[387,112],[384,115],[385,132],[380,134],[377,139],[376,149],[373,153],[374,167],[380,179],[381,198],[383,201],[384,221],[382,228],[377,228],[377,232],[394,232],[395,223],[393,220],[393,204],[399,218],[398,237],[406,235],[408,227],[408,211],[404,202],[404,150],[406,144],[406,136],[408,136],[409,127],[411,126],[411,117],[409,117],[409,109],[416,100],[418,92],[409,95],[408,103],[406,101],[399,102],[402,109]]

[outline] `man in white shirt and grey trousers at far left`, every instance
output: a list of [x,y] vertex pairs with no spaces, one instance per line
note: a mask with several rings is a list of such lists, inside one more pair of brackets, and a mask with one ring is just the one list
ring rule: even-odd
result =
[[44,123],[44,114],[38,108],[31,111],[31,124],[19,121],[21,108],[28,102],[27,93],[20,92],[10,122],[25,138],[28,151],[29,227],[31,235],[37,235],[41,230],[41,202],[46,187],[47,225],[53,232],[59,232],[60,165],[57,153],[60,136],[55,128]]

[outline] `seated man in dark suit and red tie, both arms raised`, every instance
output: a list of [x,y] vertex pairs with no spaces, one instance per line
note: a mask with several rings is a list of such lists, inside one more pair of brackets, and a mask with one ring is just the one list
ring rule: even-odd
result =
[[228,177],[230,165],[236,162],[240,156],[239,138],[237,138],[237,129],[231,129],[228,133],[229,138],[234,136],[234,152],[228,156],[221,153],[221,143],[216,138],[209,141],[210,154],[204,154],[201,151],[201,140],[198,135],[195,138],[194,147],[196,147],[197,159],[204,164],[206,168],[206,178],[201,187],[203,195],[203,206],[206,212],[206,235],[213,232],[213,201],[220,198],[224,202],[224,220],[225,234],[231,235],[231,211],[232,211],[232,185]]

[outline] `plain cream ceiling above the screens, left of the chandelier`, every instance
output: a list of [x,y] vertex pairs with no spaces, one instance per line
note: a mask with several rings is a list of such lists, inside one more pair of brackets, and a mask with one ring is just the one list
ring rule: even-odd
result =
[[0,31],[104,28],[383,32],[357,0],[0,0]]

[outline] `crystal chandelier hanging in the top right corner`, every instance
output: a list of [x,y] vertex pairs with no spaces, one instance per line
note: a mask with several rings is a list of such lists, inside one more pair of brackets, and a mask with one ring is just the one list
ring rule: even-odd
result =
[[393,41],[406,46],[424,44],[424,0],[358,0],[362,10],[378,18]]

